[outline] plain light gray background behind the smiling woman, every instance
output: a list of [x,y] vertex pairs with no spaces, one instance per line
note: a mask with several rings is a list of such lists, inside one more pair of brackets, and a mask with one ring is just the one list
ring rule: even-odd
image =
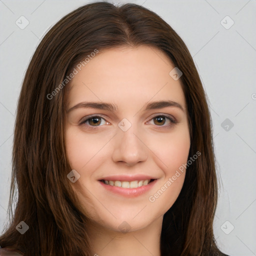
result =
[[[88,2],[0,0],[0,229],[6,219],[13,125],[24,72],[49,27]],[[117,2],[155,11],[186,43],[213,121],[220,184],[215,237],[229,255],[256,255],[256,0]],[[29,21],[24,29],[15,24],[21,15]],[[232,20],[227,15],[234,21],[228,29]]]

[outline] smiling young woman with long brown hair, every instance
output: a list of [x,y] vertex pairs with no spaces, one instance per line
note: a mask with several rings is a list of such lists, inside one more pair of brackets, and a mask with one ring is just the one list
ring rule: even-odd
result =
[[10,205],[15,185],[2,255],[225,255],[205,93],[165,21],[96,2],[48,31],[19,97]]

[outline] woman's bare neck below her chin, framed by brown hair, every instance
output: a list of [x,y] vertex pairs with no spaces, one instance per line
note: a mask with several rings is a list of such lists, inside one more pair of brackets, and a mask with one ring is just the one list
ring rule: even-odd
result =
[[94,256],[160,256],[162,216],[148,226],[118,232],[93,222],[88,224],[88,235]]

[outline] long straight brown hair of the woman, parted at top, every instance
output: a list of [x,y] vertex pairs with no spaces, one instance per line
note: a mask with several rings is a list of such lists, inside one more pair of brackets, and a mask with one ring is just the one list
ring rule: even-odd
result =
[[[65,15],[32,56],[16,113],[10,223],[0,236],[2,247],[15,247],[24,255],[92,255],[86,217],[66,177],[71,168],[63,138],[68,87],[63,80],[95,49],[122,45],[156,47],[182,71],[191,138],[188,159],[201,152],[187,167],[181,192],[163,216],[161,255],[224,255],[213,236],[217,179],[211,118],[193,59],[178,34],[154,12],[107,2]],[[15,228],[20,221],[29,226],[22,235]]]

